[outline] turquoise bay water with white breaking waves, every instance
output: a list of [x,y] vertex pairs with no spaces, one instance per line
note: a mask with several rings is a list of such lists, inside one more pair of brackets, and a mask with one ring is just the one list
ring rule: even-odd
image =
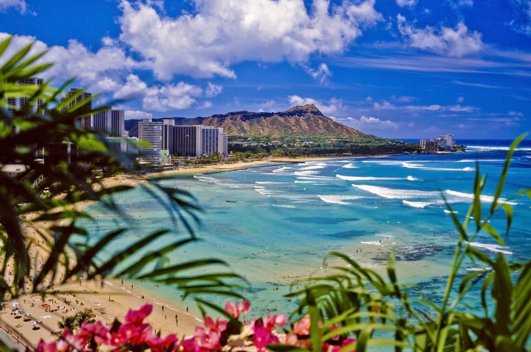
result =
[[[458,238],[441,192],[462,219],[471,201],[476,159],[481,172],[489,175],[485,194],[493,195],[506,152],[506,145],[486,144],[451,155],[345,158],[166,180],[169,186],[191,191],[204,209],[198,230],[202,241],[170,259],[225,259],[235,272],[245,275],[245,295],[253,315],[258,315],[291,311],[296,302],[283,297],[289,284],[326,272],[323,258],[331,251],[346,253],[383,273],[394,248],[400,282],[416,283],[419,293],[438,301]],[[530,176],[531,145],[523,145],[513,158],[503,196],[530,187]],[[172,225],[165,209],[141,190],[120,195],[116,202],[125,219],[92,206],[88,211],[98,216],[97,226],[87,224],[93,238],[121,222],[132,225],[134,230],[113,244],[115,249],[140,234]],[[508,247],[496,245],[485,234],[473,245],[490,256],[502,252],[510,259],[528,259],[531,202],[524,196],[512,202],[515,221]],[[506,223],[500,214],[491,224],[502,232]],[[184,237],[184,229],[172,236]],[[328,261],[330,266],[338,263],[333,258]],[[476,266],[466,263],[461,274]],[[166,299],[183,304],[173,288],[158,290]],[[479,309],[475,298],[466,303]]]

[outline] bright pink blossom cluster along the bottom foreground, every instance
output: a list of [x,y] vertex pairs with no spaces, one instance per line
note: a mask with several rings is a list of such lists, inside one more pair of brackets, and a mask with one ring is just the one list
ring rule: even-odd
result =
[[[169,334],[165,338],[152,333],[150,324],[145,322],[145,318],[151,313],[152,305],[144,304],[138,311],[130,310],[125,316],[122,324],[114,324],[107,328],[100,321],[96,323],[83,323],[75,334],[68,329],[63,331],[58,341],[40,341],[37,352],[96,352],[99,350],[118,351],[143,351],[151,349],[153,352],[215,352],[229,350],[229,334],[237,335],[241,330],[235,331],[234,322],[243,314],[249,313],[249,302],[241,303],[227,302],[225,311],[234,318],[232,321],[213,320],[210,316],[205,317],[204,326],[195,328],[192,337],[179,341],[175,334]],[[253,319],[247,327],[252,334],[249,337],[241,337],[242,342],[249,342],[250,346],[258,349],[258,352],[265,352],[267,346],[275,343],[297,346],[299,348],[310,349],[310,316],[306,315],[293,325],[293,329],[288,329],[288,333],[279,333],[277,329],[284,328],[288,323],[284,314],[269,313],[261,318]],[[238,323],[238,328],[241,325]],[[330,330],[339,328],[339,325],[331,326]],[[243,336],[244,334],[242,334]],[[246,340],[249,339],[249,340]],[[354,339],[335,336],[323,342],[322,352],[338,352],[341,348],[352,345]],[[98,348],[105,347],[105,348]],[[354,351],[354,348],[349,349]]]

